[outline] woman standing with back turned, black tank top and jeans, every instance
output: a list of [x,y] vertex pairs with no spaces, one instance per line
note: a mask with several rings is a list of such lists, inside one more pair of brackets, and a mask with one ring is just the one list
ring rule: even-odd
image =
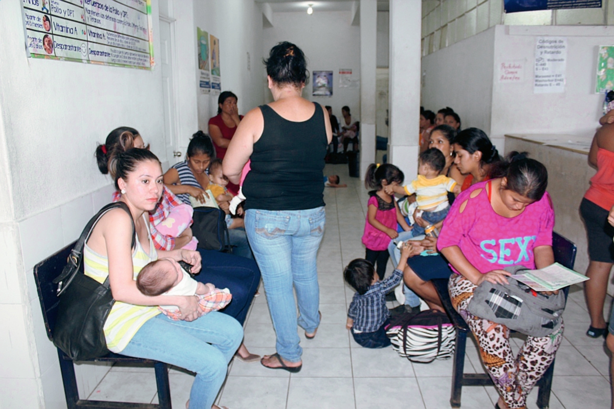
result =
[[261,362],[298,372],[297,323],[307,338],[315,337],[320,324],[316,254],[324,234],[322,171],[332,130],[324,107],[301,98],[308,71],[296,45],[279,43],[265,64],[274,102],[245,115],[228,146],[223,173],[239,182],[251,159],[243,182],[245,227],[277,335],[277,352]]

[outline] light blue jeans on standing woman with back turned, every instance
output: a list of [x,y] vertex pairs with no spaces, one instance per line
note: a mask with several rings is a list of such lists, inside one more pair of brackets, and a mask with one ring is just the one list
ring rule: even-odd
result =
[[[320,324],[320,289],[316,255],[324,235],[324,207],[308,210],[248,209],[245,226],[265,284],[276,350],[290,362],[300,362],[297,324],[314,332]],[[292,288],[297,293],[297,305]]]

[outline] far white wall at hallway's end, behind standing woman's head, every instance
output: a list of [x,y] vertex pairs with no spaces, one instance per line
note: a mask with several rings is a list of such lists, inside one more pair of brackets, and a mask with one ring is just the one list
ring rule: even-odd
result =
[[[263,55],[268,56],[271,47],[281,41],[290,41],[303,50],[310,75],[314,70],[333,71],[332,96],[311,96],[310,77],[303,97],[332,106],[339,122],[343,119],[341,107],[344,105],[350,107],[352,120],[359,119],[360,88],[339,87],[340,68],[351,68],[352,76],[360,78],[360,28],[351,26],[351,12],[274,13],[273,27],[264,29]],[[260,61],[253,63],[259,64]],[[271,101],[270,92],[265,98]]]

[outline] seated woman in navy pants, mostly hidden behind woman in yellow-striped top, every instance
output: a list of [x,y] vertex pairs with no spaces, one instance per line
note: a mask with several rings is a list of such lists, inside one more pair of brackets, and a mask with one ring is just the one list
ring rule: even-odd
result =
[[[115,162],[117,155],[133,147],[149,150],[149,145],[145,145],[138,130],[130,127],[119,127],[112,130],[104,144],[96,147],[95,156],[99,171],[114,177],[111,165]],[[112,200],[118,201],[121,197],[120,192],[114,192]],[[173,216],[174,210],[182,204],[184,203],[173,192],[166,186],[163,187],[161,199],[155,208],[149,211],[149,232],[155,249],[161,251],[181,249],[194,240],[190,228],[185,228],[179,236],[163,233],[164,229],[161,228],[162,224],[168,224],[169,217]],[[258,266],[254,260],[233,254],[204,249],[198,249],[198,252],[201,259],[206,262],[199,265],[200,274],[195,276],[196,281],[214,282],[219,287],[228,287],[233,294],[233,302],[224,308],[222,313],[234,317],[239,324],[243,325],[260,284]],[[194,272],[196,271],[198,270]],[[239,346],[236,356],[244,362],[254,362],[259,359],[258,355],[249,353],[243,343]]]

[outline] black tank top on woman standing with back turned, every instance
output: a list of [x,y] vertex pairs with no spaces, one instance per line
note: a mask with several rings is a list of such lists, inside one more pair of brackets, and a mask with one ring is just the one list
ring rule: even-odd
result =
[[304,210],[324,206],[324,157],[328,141],[324,112],[304,122],[279,116],[261,105],[262,136],[254,144],[251,171],[243,182],[245,209]]

